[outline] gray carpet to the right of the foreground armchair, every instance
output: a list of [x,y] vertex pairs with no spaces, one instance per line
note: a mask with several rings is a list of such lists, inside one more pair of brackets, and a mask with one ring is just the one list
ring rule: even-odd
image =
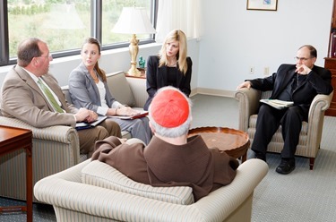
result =
[[280,154],[267,154],[270,169],[254,190],[252,221],[336,221],[335,126],[335,117],[324,118],[321,149],[313,170],[309,170],[308,158],[296,158],[296,169],[280,175],[275,172]]

